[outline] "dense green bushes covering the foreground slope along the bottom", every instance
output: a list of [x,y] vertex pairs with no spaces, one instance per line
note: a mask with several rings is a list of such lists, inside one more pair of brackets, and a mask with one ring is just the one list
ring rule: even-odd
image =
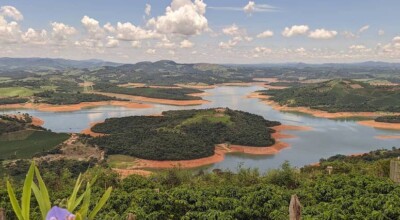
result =
[[[400,186],[389,179],[389,162],[400,149],[377,150],[362,156],[336,155],[321,159],[319,166],[300,169],[288,162],[280,168],[260,173],[257,169],[203,172],[179,168],[160,171],[150,177],[132,175],[118,178],[106,164],[78,161],[53,161],[39,164],[54,205],[63,207],[74,187],[78,172],[93,182],[92,198],[97,201],[107,187],[110,199],[98,214],[99,219],[288,219],[290,197],[296,194],[303,219],[398,219]],[[73,163],[76,163],[75,165]],[[29,162],[9,167],[16,193]],[[332,174],[326,171],[332,166]],[[53,169],[57,168],[57,169]],[[14,170],[18,169],[18,170]],[[86,170],[86,171],[85,171]],[[0,207],[14,219],[5,187],[0,181]],[[92,208],[95,204],[92,203]],[[32,219],[39,219],[36,203]]]

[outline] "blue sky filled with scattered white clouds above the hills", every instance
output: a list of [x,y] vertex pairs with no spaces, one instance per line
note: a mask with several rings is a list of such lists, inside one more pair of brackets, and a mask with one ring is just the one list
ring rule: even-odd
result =
[[400,62],[398,0],[0,1],[0,57]]

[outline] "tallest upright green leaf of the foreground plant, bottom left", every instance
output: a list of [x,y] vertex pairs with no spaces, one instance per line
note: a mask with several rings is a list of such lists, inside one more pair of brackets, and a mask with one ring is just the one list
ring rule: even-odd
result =
[[29,171],[26,174],[24,187],[22,190],[22,198],[21,198],[21,214],[24,220],[29,219],[29,212],[31,208],[31,195],[32,195],[32,182],[33,175],[35,171],[35,162],[33,161],[31,166],[29,167]]

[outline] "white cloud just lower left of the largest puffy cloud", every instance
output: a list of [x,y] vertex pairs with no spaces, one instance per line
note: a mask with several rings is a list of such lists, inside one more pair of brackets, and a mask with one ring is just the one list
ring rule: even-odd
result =
[[130,22],[117,23],[116,28],[117,38],[124,41],[136,41],[157,38],[159,35],[151,30],[145,30],[141,27],[137,27]]

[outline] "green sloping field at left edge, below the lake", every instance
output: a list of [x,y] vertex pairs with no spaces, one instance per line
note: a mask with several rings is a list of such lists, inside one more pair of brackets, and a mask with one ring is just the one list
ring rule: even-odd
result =
[[14,132],[0,137],[0,159],[32,158],[36,153],[50,150],[69,138],[69,134],[49,131]]

